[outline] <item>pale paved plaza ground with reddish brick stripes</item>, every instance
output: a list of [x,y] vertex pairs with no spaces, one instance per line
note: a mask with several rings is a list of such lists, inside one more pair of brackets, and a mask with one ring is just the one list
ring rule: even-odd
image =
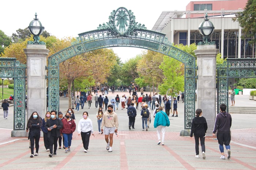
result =
[[[129,96],[127,92],[117,91],[107,96],[111,99],[116,94]],[[67,110],[67,103],[68,98],[60,98],[63,113]],[[248,100],[248,96],[236,96],[236,106],[252,107],[255,103]],[[86,103],[84,109],[75,112],[76,123],[82,118],[83,111],[88,111],[93,121],[95,137],[90,138],[88,153],[83,152],[82,140],[75,132],[71,152],[64,153],[64,149],[57,149],[57,156],[49,158],[41,138],[39,155],[30,158],[27,138],[11,137],[13,107],[9,109],[7,120],[3,119],[3,111],[0,111],[0,169],[256,169],[255,114],[231,114],[231,160],[219,159],[218,141],[213,137],[206,137],[206,159],[202,159],[201,154],[200,158],[195,158],[194,138],[180,136],[180,131],[184,129],[184,103],[178,103],[178,117],[169,117],[170,127],[166,128],[164,146],[157,145],[154,119],[148,131],[142,131],[140,111],[137,110],[135,129],[129,130],[126,110],[121,110],[119,104],[116,110],[118,137],[114,135],[113,152],[108,153],[104,136],[98,134],[97,109],[93,101],[90,109]]]

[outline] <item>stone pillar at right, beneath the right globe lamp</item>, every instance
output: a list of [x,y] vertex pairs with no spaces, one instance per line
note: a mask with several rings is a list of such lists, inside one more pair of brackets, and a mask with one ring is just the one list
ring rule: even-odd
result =
[[216,117],[216,45],[199,45],[195,50],[197,57],[197,104],[203,111],[208,124],[207,136],[212,135]]

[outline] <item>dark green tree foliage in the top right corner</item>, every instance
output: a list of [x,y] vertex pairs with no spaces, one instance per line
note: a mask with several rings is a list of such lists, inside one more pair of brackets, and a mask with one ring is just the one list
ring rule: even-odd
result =
[[249,43],[256,42],[256,1],[248,0],[244,11],[238,12],[233,21],[238,21],[245,36],[252,38]]

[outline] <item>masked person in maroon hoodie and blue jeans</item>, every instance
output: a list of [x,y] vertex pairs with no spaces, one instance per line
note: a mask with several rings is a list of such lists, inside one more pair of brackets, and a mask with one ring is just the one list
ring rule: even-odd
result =
[[61,120],[63,129],[60,130],[60,134],[62,134],[64,138],[65,153],[68,153],[68,151],[70,151],[73,132],[76,130],[76,123],[70,118],[69,112],[66,113],[65,119]]

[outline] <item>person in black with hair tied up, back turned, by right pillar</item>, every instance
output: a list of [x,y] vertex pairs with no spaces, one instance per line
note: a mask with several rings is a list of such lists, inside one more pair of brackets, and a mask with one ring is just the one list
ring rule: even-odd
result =
[[202,147],[202,155],[203,159],[206,158],[205,156],[205,134],[207,131],[207,122],[206,119],[202,116],[203,112],[200,108],[196,109],[196,117],[192,120],[192,126],[191,126],[191,133],[190,137],[195,137],[195,143],[196,143],[196,158],[199,158],[199,138],[200,138],[200,144]]

